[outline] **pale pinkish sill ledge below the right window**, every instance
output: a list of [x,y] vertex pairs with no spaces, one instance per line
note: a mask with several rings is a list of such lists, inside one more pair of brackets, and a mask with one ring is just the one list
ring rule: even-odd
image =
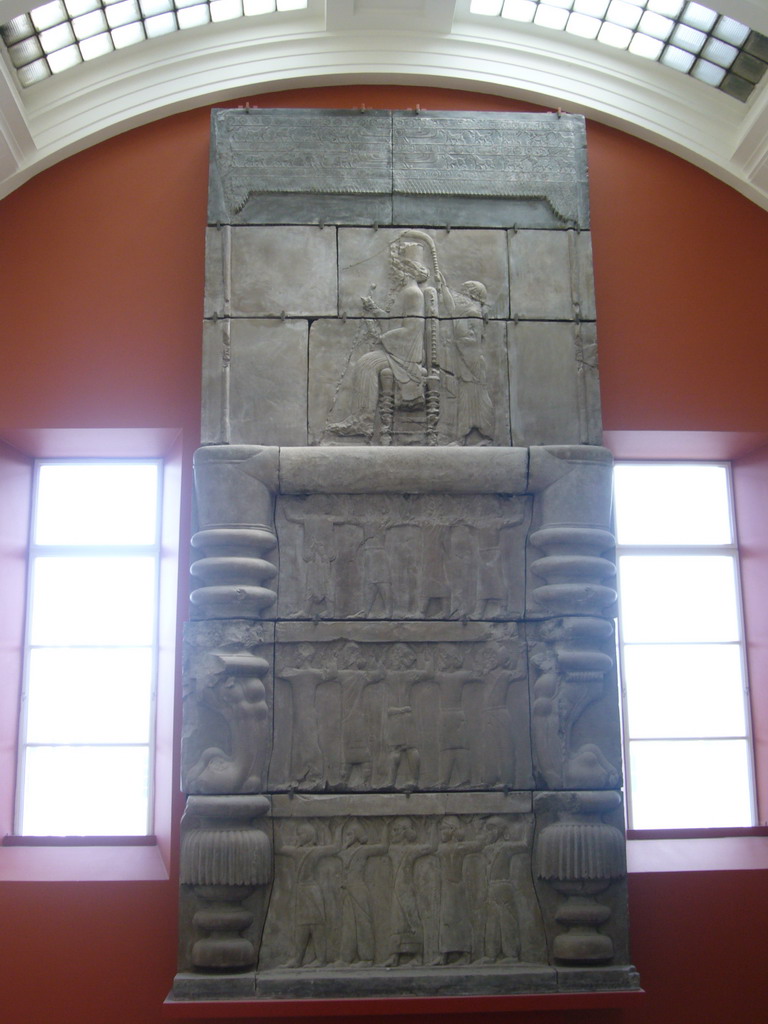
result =
[[768,870],[768,828],[630,833],[630,874]]

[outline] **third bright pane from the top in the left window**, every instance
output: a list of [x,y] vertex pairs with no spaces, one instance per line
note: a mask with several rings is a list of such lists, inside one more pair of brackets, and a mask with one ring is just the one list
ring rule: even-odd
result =
[[152,683],[148,648],[33,649],[27,741],[146,743]]

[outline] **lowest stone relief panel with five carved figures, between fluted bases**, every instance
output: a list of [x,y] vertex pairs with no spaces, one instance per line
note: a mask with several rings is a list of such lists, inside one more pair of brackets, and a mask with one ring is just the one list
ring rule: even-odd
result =
[[275,798],[260,966],[546,963],[529,800]]

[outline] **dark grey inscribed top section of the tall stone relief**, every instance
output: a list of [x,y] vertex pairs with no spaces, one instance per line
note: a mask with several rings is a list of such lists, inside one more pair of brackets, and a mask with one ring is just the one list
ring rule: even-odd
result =
[[588,226],[584,120],[214,111],[209,223]]

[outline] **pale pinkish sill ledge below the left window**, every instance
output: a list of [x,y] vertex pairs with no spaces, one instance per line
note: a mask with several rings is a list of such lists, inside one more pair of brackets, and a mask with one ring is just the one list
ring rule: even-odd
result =
[[9,836],[0,846],[3,882],[165,882],[168,878],[154,837]]

